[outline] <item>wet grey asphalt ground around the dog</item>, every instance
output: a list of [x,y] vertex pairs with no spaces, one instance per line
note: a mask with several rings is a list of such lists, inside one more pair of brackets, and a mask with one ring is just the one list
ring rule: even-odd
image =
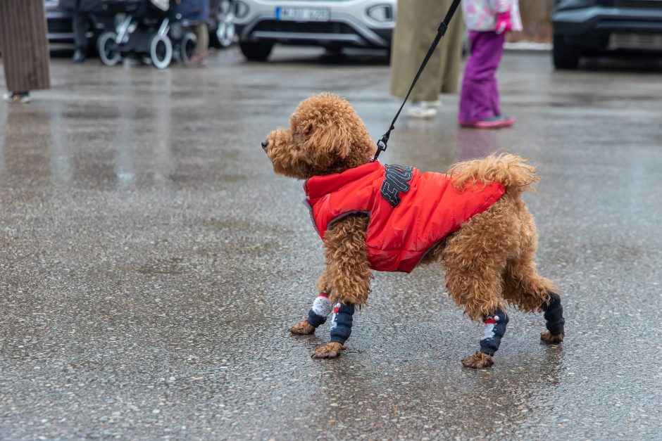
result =
[[[643,71],[642,71],[643,70]],[[506,53],[512,129],[401,117],[384,162],[445,170],[532,158],[539,271],[566,341],[513,309],[491,369],[437,267],[377,274],[349,349],[313,360],[322,244],[301,182],[260,142],[302,98],[346,96],[375,139],[399,101],[384,58],[237,49],[208,68],[54,60],[53,89],[0,103],[0,437],[658,439],[662,425],[662,68],[554,72]],[[1,81],[0,81],[1,82]]]

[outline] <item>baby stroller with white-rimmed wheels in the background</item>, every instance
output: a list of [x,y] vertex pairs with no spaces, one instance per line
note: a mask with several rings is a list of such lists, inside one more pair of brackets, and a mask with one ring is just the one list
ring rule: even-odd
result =
[[99,35],[101,63],[117,64],[126,56],[139,56],[145,64],[165,69],[173,57],[191,58],[196,36],[170,8],[168,0],[104,0],[103,10],[114,20],[115,30]]

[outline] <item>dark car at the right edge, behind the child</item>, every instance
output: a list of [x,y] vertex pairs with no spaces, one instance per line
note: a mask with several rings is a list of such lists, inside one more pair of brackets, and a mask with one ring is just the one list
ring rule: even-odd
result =
[[558,69],[606,51],[662,55],[662,0],[557,0],[552,23]]

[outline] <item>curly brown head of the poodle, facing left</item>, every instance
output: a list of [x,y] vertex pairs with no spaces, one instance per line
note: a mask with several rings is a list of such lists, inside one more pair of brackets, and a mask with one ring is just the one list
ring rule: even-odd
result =
[[333,94],[301,101],[289,118],[289,129],[270,132],[262,147],[276,173],[297,179],[357,167],[376,150],[354,108]]

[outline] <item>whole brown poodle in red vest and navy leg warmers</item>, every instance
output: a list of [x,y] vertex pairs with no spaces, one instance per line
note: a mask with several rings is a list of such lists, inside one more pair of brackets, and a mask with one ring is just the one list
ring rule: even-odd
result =
[[[480,350],[464,366],[492,366],[508,323],[506,302],[544,311],[548,331],[541,340],[563,341],[561,298],[536,271],[537,231],[520,198],[537,181],[534,167],[509,154],[460,162],[447,174],[372,162],[376,148],[366,127],[332,94],[302,101],[289,122],[262,146],[275,172],[306,179],[311,219],[324,241],[320,295],[290,330],[312,334],[333,309],[331,341],[313,358],[345,349],[354,308],[368,300],[371,270],[409,272],[432,262],[446,270],[451,298],[486,327]],[[446,197],[450,209],[442,207]],[[429,207],[430,200],[439,205]]]

